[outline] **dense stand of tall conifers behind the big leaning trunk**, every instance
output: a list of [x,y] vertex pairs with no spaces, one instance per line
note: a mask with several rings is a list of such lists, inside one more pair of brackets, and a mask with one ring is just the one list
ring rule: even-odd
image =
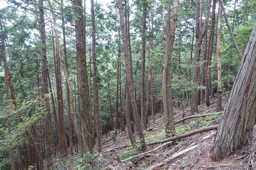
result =
[[221,111],[221,93],[250,50],[256,12],[255,0],[226,1],[226,11],[216,0],[7,3],[0,9],[0,170],[50,169],[54,158],[101,152],[102,135],[111,131],[115,140],[126,128],[145,151],[149,116],[164,114],[171,137],[174,105],[195,114],[217,92]]

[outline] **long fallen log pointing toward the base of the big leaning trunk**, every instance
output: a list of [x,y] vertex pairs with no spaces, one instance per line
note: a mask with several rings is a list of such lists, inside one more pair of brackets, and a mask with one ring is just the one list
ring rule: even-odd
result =
[[188,136],[192,136],[192,135],[195,135],[195,134],[198,134],[198,133],[215,130],[215,129],[218,128],[218,126],[219,125],[204,126],[203,128],[200,128],[200,129],[197,129],[197,130],[193,130],[193,131],[187,132],[185,134],[181,134],[181,135],[170,137],[170,138],[163,139],[163,140],[157,140],[157,141],[149,142],[149,143],[146,143],[146,145],[166,143],[168,141],[178,140],[178,139],[185,138],[185,137],[188,137]]

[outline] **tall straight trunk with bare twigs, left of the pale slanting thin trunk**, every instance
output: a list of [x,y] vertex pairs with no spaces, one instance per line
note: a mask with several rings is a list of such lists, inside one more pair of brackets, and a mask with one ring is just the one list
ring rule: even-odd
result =
[[[39,0],[39,6],[43,6],[43,0]],[[43,8],[39,8],[39,24],[40,24],[40,38],[41,38],[41,61],[42,61],[42,81],[43,81],[43,95],[47,95],[48,92],[48,78],[47,78],[47,58],[46,58],[46,36],[44,29],[44,11]],[[47,169],[51,166],[51,134],[50,134],[50,105],[47,96],[44,96],[44,108],[46,110],[45,118],[45,140],[46,140],[46,165]]]

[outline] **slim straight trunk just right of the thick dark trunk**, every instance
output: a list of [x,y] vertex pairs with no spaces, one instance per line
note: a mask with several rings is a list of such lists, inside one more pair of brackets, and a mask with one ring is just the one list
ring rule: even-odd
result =
[[[95,115],[96,115],[98,152],[101,152],[102,151],[102,146],[101,146],[101,121],[100,121],[100,115],[99,115],[99,91],[98,91],[98,73],[97,73],[97,60],[96,60],[96,26],[95,26],[93,0],[91,0],[91,27],[92,27],[92,39],[93,39],[94,112],[95,112]],[[95,119],[95,117],[94,117],[94,119]]]

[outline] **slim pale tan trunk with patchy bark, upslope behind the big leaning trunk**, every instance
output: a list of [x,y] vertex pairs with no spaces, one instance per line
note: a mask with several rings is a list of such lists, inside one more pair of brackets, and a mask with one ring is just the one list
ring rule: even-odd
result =
[[[220,5],[219,5],[220,6]],[[217,101],[217,111],[221,111],[221,21],[222,21],[222,8],[219,7],[219,18],[218,18],[218,28],[217,28],[217,44],[216,44],[216,54],[217,54],[217,66],[218,66],[218,101]]]

